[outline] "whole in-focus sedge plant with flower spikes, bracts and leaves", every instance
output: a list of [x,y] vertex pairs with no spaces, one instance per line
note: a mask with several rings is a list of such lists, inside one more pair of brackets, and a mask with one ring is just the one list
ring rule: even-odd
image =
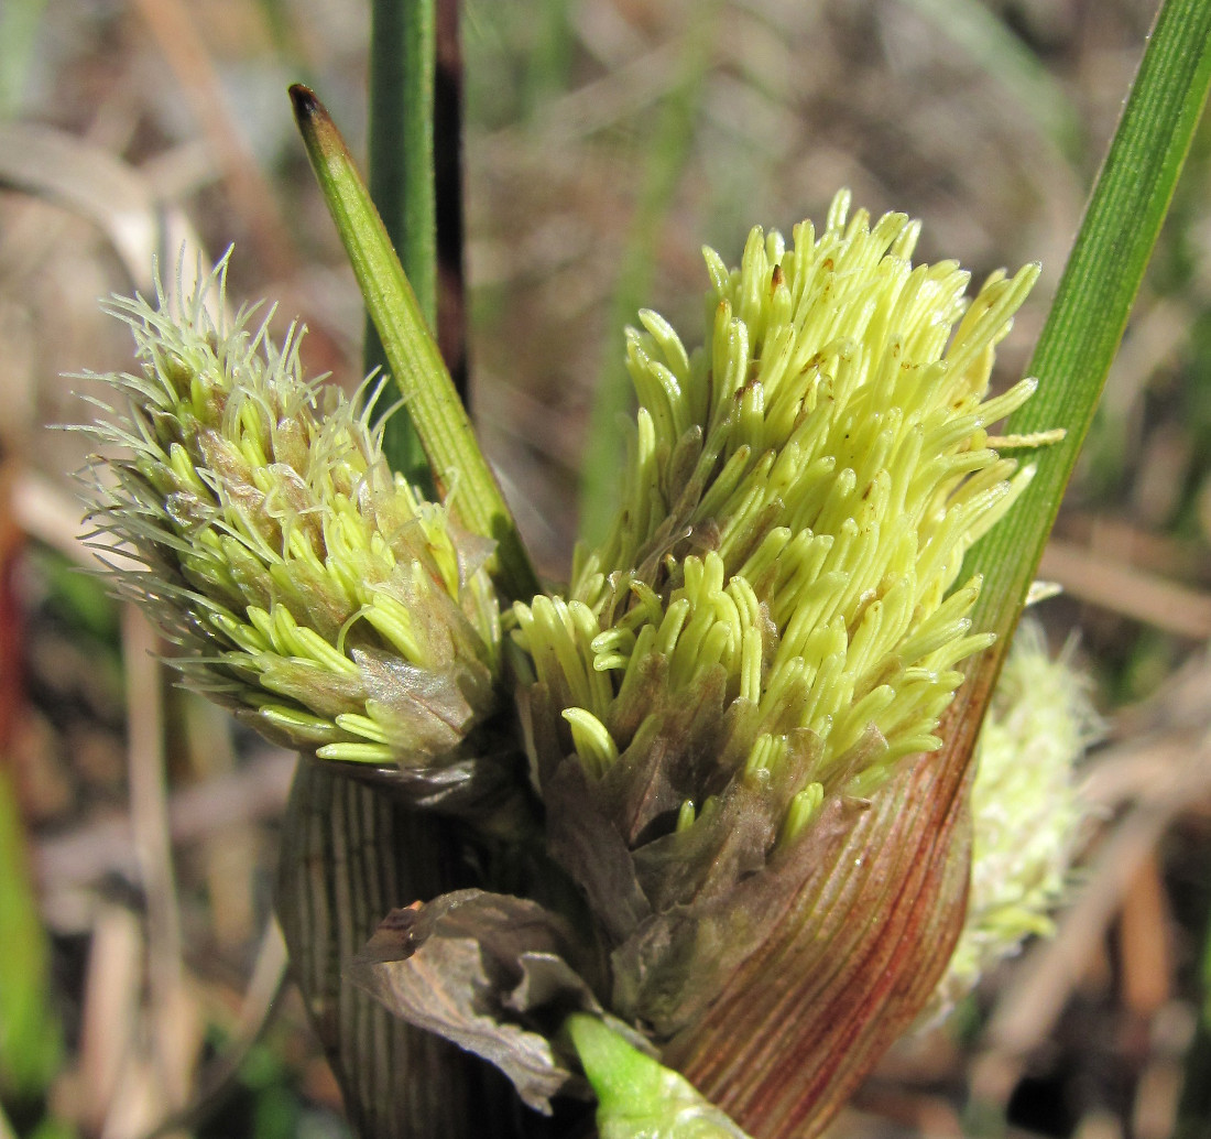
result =
[[[754,228],[737,265],[705,251],[701,332],[650,311],[627,331],[622,500],[557,586],[308,88],[299,127],[431,490],[302,374],[293,334],[216,315],[223,265],[115,302],[140,367],[105,378],[97,540],[134,554],[117,588],[186,680],[304,755],[282,918],[367,1139],[538,1134],[544,1114],[609,1139],[814,1135],[1044,928],[1069,845],[1022,849],[1009,824],[1072,834],[1085,704],[1028,640],[980,727],[1209,35],[1205,4],[1163,6],[1028,378],[999,395],[1038,267],[971,290],[845,191],[819,227]],[[404,259],[429,281],[424,236]],[[1023,712],[1034,689],[1055,702]],[[469,1110],[481,1094],[504,1106]]]

